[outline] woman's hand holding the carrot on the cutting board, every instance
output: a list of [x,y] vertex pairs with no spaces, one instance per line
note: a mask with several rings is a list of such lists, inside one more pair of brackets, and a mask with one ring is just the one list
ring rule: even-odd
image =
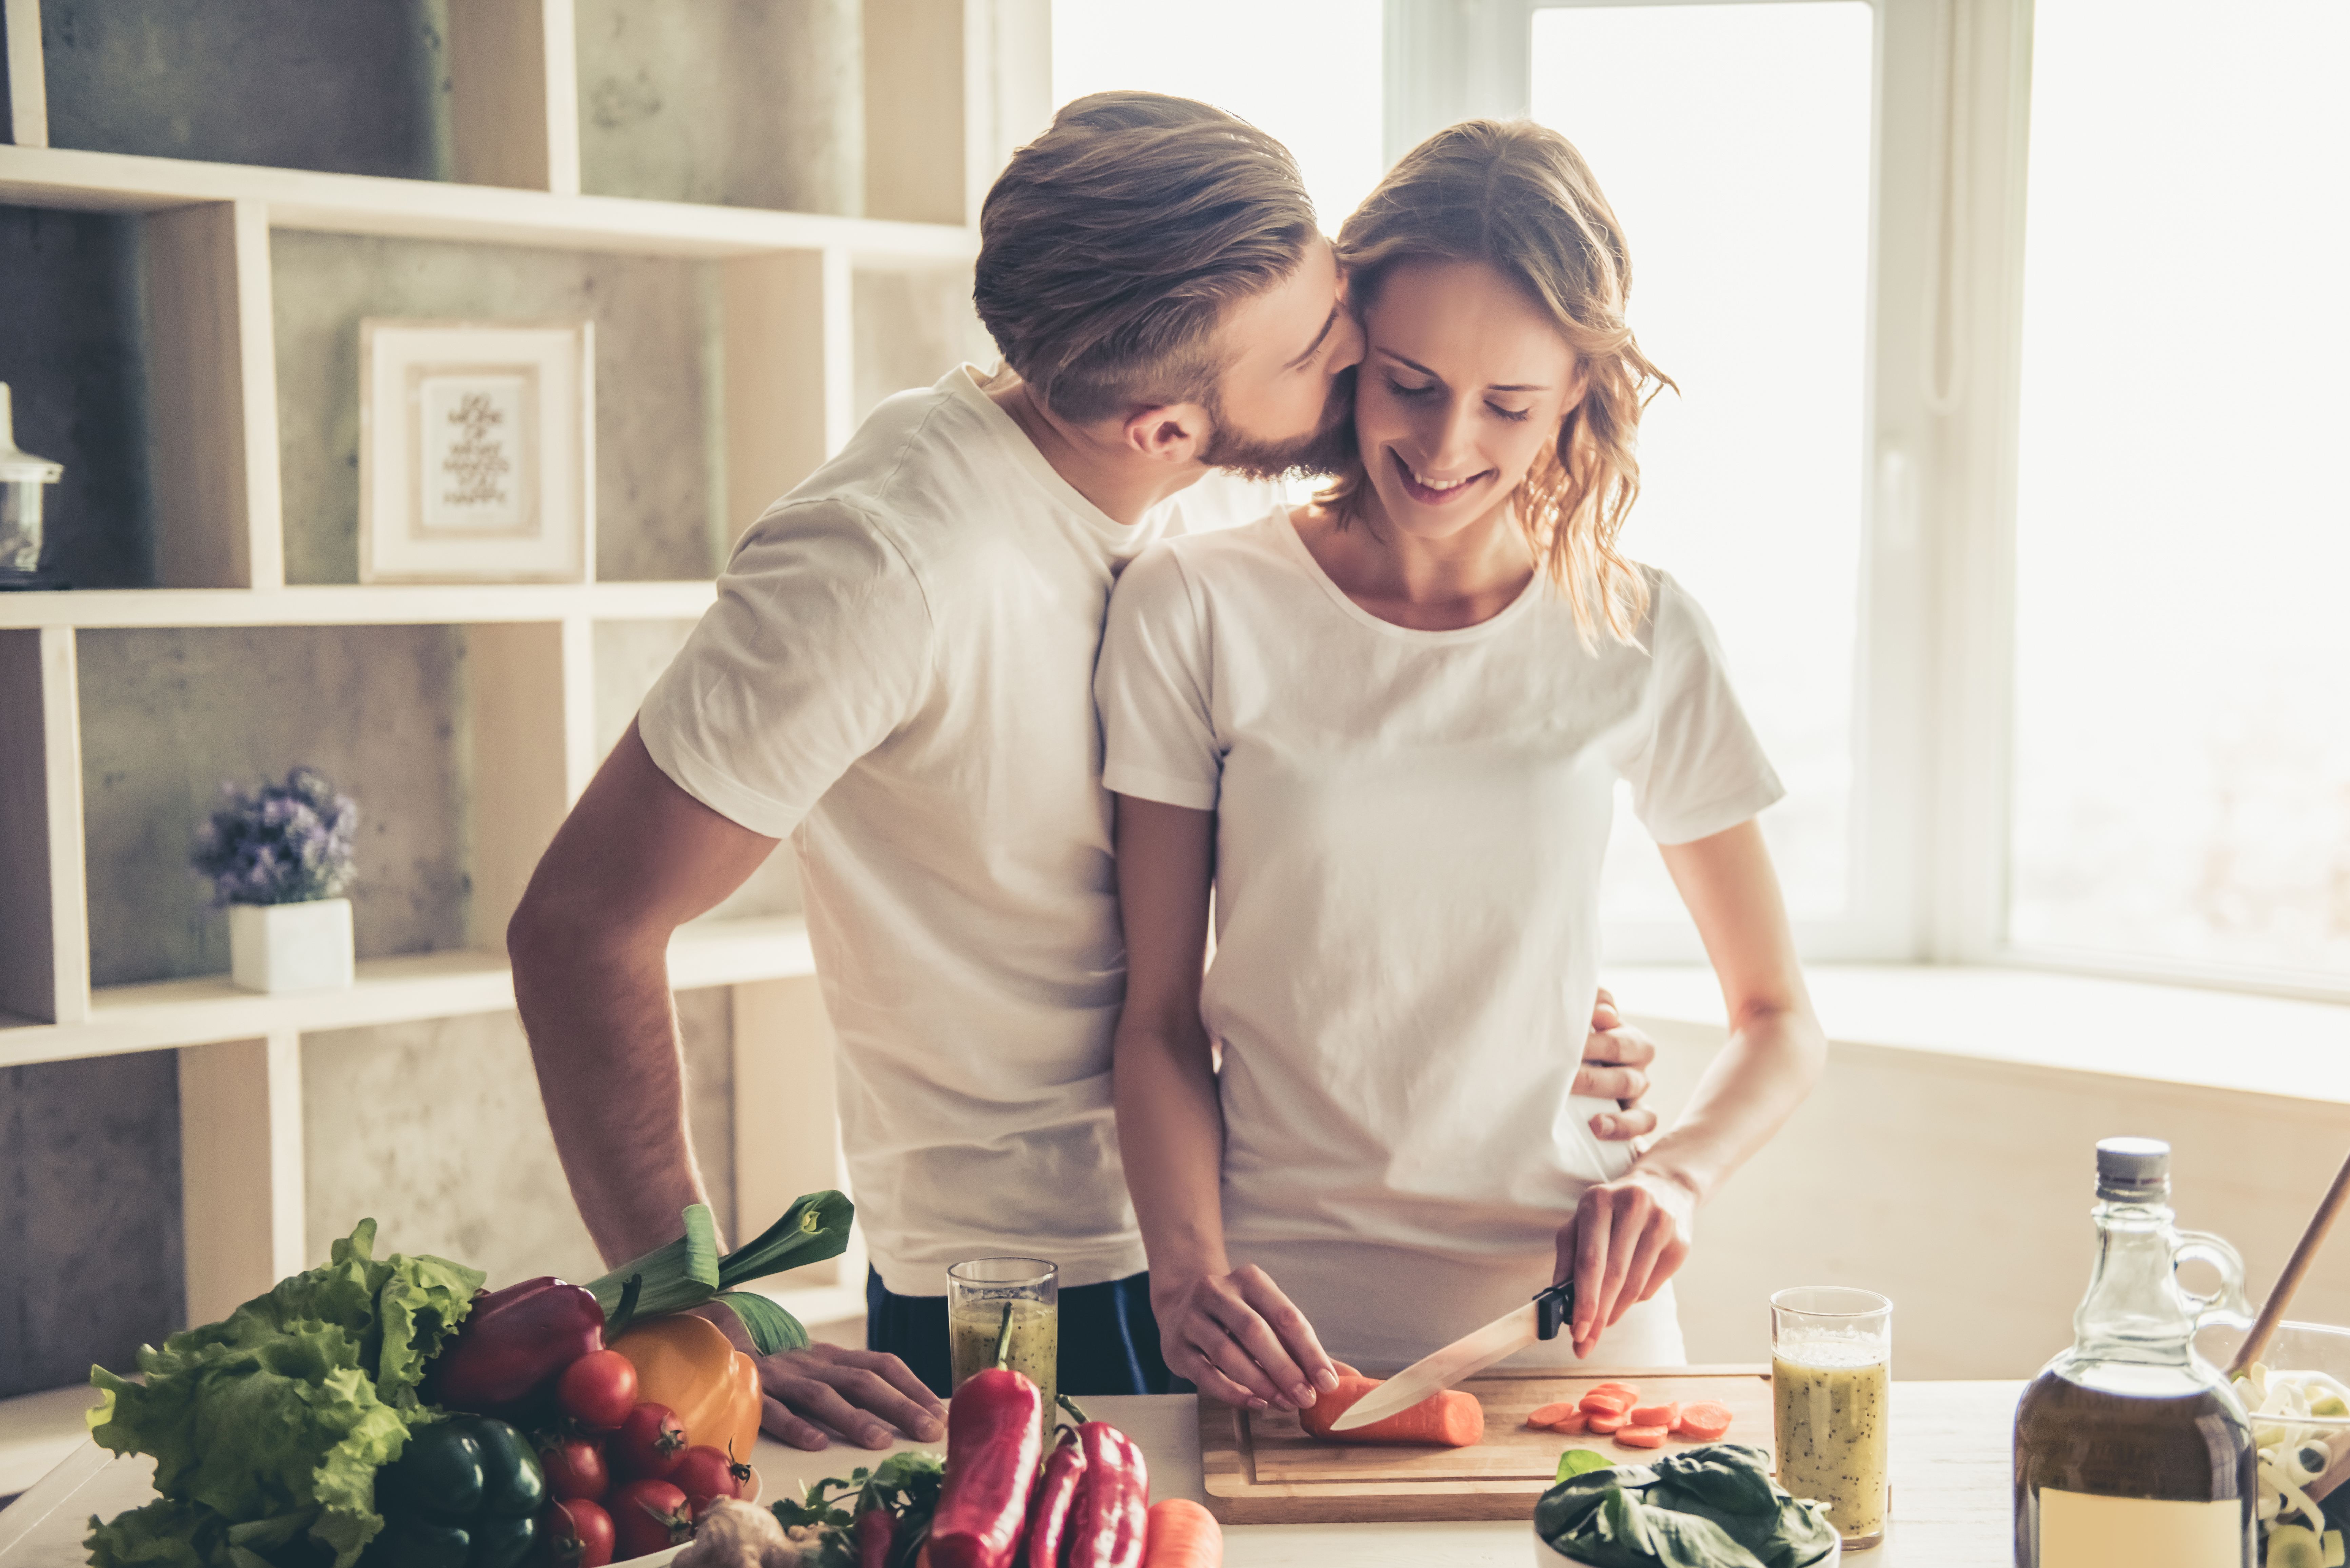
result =
[[1314,1324],[1253,1262],[1229,1274],[1152,1269],[1152,1312],[1168,1371],[1208,1399],[1304,1410],[1316,1389],[1337,1387],[1337,1363],[1323,1354]]

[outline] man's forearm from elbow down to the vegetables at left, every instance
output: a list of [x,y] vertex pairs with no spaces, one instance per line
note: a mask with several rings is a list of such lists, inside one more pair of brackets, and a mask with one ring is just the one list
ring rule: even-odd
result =
[[517,933],[515,1006],[571,1197],[606,1267],[674,1241],[710,1201],[686,1138],[667,943]]

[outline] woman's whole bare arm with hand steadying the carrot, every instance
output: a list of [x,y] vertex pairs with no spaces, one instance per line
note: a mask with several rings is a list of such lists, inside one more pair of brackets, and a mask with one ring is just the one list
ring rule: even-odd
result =
[[1119,797],[1126,1009],[1114,1051],[1126,1187],[1168,1368],[1224,1403],[1304,1408],[1316,1387],[1337,1387],[1330,1356],[1264,1269],[1234,1269],[1224,1255],[1224,1110],[1198,1020],[1213,882],[1213,811]]

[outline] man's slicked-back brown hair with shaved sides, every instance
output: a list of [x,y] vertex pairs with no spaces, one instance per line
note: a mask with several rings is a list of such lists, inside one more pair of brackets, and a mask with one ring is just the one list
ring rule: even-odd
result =
[[1297,162],[1257,127],[1097,92],[987,193],[971,296],[1003,362],[1067,421],[1213,407],[1224,308],[1290,277],[1318,233]]

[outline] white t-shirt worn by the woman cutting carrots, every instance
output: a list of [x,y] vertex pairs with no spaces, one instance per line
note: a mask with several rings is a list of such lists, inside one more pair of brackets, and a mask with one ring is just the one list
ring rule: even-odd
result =
[[[1217,813],[1224,1234],[1365,1371],[1546,1286],[1556,1227],[1631,1164],[1567,1095],[1617,778],[1664,844],[1781,795],[1713,628],[1661,571],[1650,595],[1640,646],[1584,649],[1542,576],[1408,630],[1276,510],[1152,548],[1112,599],[1104,783]],[[1598,1354],[1680,1361],[1668,1295]]]

